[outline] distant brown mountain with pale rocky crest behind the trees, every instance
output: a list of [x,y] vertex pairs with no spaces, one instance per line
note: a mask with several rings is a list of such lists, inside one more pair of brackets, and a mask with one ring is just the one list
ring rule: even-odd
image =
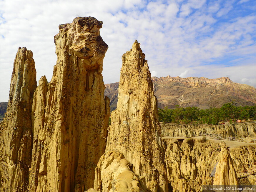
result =
[[[199,107],[207,109],[221,107],[233,102],[236,106],[256,104],[255,87],[239,84],[228,77],[207,79],[205,77],[152,77],[154,93],[159,108]],[[119,82],[105,84],[104,94],[110,99],[111,111],[117,106]]]

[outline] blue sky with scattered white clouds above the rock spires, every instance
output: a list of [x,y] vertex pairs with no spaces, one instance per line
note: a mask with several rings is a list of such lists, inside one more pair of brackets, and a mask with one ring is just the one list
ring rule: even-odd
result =
[[0,0],[0,102],[19,46],[33,51],[37,79],[51,80],[53,36],[77,16],[104,23],[105,83],[119,81],[122,54],[137,39],[152,76],[224,76],[256,87],[255,0]]

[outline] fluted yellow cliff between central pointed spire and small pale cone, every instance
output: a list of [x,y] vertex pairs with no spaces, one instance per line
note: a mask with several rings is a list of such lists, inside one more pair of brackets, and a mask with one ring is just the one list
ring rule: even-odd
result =
[[195,139],[172,139],[164,143],[167,145],[168,183],[173,191],[200,191],[203,184],[212,184],[210,174],[219,153],[215,150],[217,144],[201,143]]

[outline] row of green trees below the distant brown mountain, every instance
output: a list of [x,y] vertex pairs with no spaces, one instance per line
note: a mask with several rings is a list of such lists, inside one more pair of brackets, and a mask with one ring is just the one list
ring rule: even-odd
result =
[[223,104],[220,108],[200,109],[198,107],[177,107],[175,109],[158,109],[159,121],[164,123],[185,124],[213,124],[219,122],[233,122],[235,119],[254,121],[256,119],[255,106],[234,106],[234,103]]

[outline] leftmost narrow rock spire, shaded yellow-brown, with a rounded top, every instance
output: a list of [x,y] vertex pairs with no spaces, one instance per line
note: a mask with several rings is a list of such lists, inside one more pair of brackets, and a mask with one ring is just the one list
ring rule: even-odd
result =
[[31,106],[36,89],[32,51],[18,49],[9,103],[0,127],[0,191],[26,191],[32,153]]

